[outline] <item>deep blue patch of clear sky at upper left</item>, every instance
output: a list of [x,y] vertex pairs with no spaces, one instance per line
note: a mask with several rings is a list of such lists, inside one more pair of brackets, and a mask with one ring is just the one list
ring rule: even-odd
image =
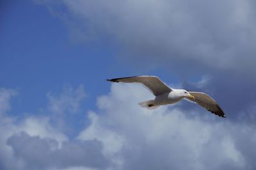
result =
[[[94,86],[85,82],[88,77],[97,82],[106,78],[103,73],[109,71],[108,62],[112,62],[111,49],[72,43],[65,24],[33,1],[12,1],[4,8],[1,86],[18,88],[20,94],[26,94],[20,96],[19,109],[36,111],[45,103],[46,92],[58,91],[65,84],[84,84],[88,91],[98,95],[107,90],[93,90]],[[95,76],[90,76],[91,73]]]

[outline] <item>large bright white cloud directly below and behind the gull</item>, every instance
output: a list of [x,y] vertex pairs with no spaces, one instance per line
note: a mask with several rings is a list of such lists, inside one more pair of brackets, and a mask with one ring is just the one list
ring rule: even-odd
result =
[[[146,92],[136,85],[113,84],[109,95],[99,97],[99,113],[90,113],[92,124],[79,138],[93,136],[114,150],[109,153],[116,169],[255,168],[254,125],[237,124],[206,110],[145,110],[138,102],[150,99]],[[102,137],[102,129],[115,138]]]

